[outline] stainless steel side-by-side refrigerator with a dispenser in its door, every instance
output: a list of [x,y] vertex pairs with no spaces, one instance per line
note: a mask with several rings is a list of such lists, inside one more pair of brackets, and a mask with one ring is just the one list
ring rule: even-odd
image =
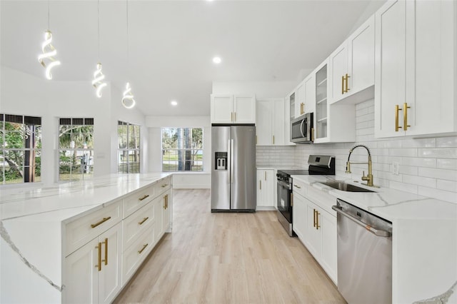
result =
[[213,126],[211,158],[211,212],[256,211],[256,126]]

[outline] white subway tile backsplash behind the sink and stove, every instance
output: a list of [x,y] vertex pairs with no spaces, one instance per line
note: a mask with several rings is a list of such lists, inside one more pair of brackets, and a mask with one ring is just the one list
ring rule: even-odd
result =
[[[374,100],[356,105],[356,143],[371,150],[376,185],[457,203],[457,136],[430,138],[374,138]],[[351,166],[344,173],[349,149],[356,143],[327,143],[291,147],[257,147],[257,166],[308,167],[310,154],[336,156],[336,175],[361,181],[366,165]],[[366,150],[356,148],[351,161],[367,160]],[[399,175],[393,174],[393,162]]]

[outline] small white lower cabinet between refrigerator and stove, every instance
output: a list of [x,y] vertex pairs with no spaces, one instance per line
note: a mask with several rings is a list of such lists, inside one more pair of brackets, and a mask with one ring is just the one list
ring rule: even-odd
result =
[[276,208],[276,174],[274,169],[257,169],[257,208],[273,210]]

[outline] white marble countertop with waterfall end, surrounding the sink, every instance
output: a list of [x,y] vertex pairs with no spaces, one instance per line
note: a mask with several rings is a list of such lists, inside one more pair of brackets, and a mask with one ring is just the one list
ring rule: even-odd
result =
[[[338,176],[292,178],[305,183],[310,193],[326,193],[335,198],[326,201],[321,206],[323,210],[335,213],[331,206],[339,198],[391,221],[392,303],[421,303],[438,298],[443,303],[457,303],[456,203],[390,188],[361,186]],[[321,183],[329,180],[344,180],[375,192],[340,191]]]

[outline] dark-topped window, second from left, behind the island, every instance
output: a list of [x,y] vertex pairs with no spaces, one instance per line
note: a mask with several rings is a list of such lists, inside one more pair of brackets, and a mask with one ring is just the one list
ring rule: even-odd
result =
[[94,118],[60,118],[59,181],[94,175]]

